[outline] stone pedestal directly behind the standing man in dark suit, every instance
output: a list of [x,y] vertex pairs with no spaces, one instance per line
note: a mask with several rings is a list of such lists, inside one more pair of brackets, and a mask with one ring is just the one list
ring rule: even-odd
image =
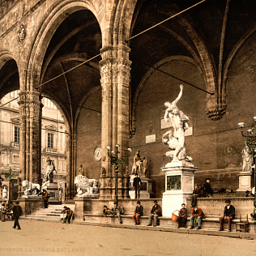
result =
[[[135,190],[133,187],[134,177],[135,177],[135,175],[130,176],[130,183],[129,183],[129,187],[130,187],[129,195],[130,195],[131,199],[135,198]],[[151,191],[151,188],[152,188],[151,181],[149,180],[148,177],[145,177],[142,175],[140,176],[140,180],[141,180],[142,185],[140,186],[140,190],[139,190],[139,198],[140,199],[148,199],[148,198],[150,198],[150,193],[152,192]]]

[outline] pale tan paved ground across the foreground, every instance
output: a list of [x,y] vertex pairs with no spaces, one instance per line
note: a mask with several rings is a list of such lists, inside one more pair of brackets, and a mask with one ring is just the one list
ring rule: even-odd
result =
[[255,255],[254,240],[19,220],[0,222],[0,255]]

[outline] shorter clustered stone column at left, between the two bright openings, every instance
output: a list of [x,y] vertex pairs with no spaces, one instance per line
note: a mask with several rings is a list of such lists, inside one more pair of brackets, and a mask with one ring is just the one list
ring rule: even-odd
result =
[[19,96],[20,178],[41,185],[41,93],[20,91]]

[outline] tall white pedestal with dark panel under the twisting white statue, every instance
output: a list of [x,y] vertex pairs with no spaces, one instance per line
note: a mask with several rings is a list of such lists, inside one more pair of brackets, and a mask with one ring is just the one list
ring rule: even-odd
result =
[[184,166],[180,161],[166,164],[161,169],[165,172],[162,211],[164,216],[171,217],[173,211],[180,210],[181,203],[186,203],[186,199],[192,196],[194,171],[198,168]]

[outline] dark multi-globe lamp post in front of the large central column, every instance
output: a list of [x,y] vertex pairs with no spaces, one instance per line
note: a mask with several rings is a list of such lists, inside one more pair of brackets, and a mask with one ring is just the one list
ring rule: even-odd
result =
[[120,145],[116,145],[116,151],[111,151],[111,153],[109,154],[110,151],[110,147],[106,147],[108,150],[108,156],[110,157],[110,163],[115,165],[115,173],[116,173],[116,186],[115,186],[115,198],[114,198],[114,203],[117,203],[117,174],[118,174],[118,168],[119,168],[119,164],[121,165],[125,165],[126,164],[126,160],[130,157],[130,152],[131,152],[131,148],[128,148],[127,150],[129,151],[129,156],[125,157],[120,157],[118,158],[118,154],[120,153],[120,151],[118,151],[118,148],[120,147]]

